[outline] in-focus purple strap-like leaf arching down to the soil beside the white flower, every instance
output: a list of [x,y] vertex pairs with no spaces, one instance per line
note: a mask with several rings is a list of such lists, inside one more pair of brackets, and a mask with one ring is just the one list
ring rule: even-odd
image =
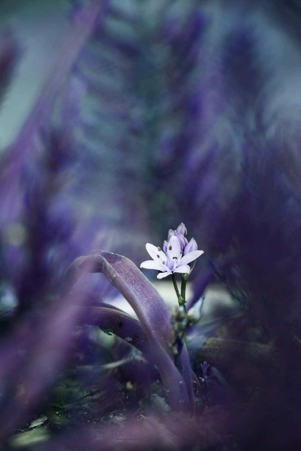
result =
[[194,399],[187,350],[183,347],[181,354],[182,377],[170,348],[171,314],[154,286],[128,258],[99,250],[74,261],[66,272],[63,293],[82,272],[103,272],[129,302],[144,328],[162,381],[170,390],[171,406],[175,410],[192,411]]

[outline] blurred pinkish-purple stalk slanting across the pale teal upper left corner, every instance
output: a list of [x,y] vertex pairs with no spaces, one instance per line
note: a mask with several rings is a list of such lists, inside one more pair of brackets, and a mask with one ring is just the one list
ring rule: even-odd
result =
[[[26,160],[30,160],[35,150],[35,138],[42,125],[49,119],[56,99],[64,86],[74,62],[77,60],[83,45],[94,30],[96,24],[105,15],[107,0],[93,0],[86,9],[79,9],[74,14],[66,37],[60,46],[49,75],[42,88],[31,114],[25,121],[15,142],[9,147],[2,160],[0,181],[0,216],[5,222],[5,206],[8,210],[14,205],[19,184],[22,186],[22,175]],[[26,160],[25,160],[26,159]],[[22,204],[22,202],[21,202]],[[10,216],[9,212],[9,216]]]

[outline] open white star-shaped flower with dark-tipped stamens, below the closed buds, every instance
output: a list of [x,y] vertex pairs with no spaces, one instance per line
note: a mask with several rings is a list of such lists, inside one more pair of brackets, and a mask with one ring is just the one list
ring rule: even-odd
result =
[[[195,243],[195,241],[194,241]],[[195,243],[196,244],[196,243]],[[167,252],[164,253],[159,247],[147,243],[146,250],[153,260],[142,262],[140,268],[157,269],[162,271],[157,275],[158,279],[166,277],[173,272],[189,273],[190,267],[188,263],[193,262],[204,251],[193,250],[183,255],[181,245],[175,235],[171,236],[167,243]]]

